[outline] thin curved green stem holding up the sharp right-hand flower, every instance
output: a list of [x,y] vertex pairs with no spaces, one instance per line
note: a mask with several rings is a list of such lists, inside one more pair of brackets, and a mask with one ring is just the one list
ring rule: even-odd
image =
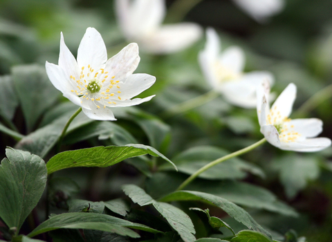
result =
[[223,156],[221,158],[218,158],[209,164],[205,165],[201,169],[197,170],[192,176],[188,177],[187,180],[185,180],[179,187],[176,189],[176,191],[182,190],[184,187],[186,187],[188,184],[190,184],[199,174],[203,173],[207,169],[210,169],[216,164],[219,164],[220,162],[223,162],[225,160],[228,160],[230,158],[236,157],[236,156],[241,156],[243,153],[247,153],[248,151],[251,151],[252,149],[255,149],[256,147],[259,147],[259,145],[264,144],[266,142],[266,138],[263,138],[259,140],[258,142],[255,142],[255,144],[252,144],[246,148],[240,149],[239,151],[235,151],[234,153],[230,153],[227,156]]

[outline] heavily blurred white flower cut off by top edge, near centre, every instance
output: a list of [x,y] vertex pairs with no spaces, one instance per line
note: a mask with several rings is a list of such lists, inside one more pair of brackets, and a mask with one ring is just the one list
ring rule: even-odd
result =
[[161,26],[166,13],[165,0],[116,0],[118,22],[128,41],[135,41],[147,53],[174,53],[201,37],[194,23]]

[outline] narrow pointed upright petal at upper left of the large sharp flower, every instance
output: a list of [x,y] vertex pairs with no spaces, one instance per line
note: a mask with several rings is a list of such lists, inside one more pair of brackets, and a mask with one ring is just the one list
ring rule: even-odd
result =
[[62,35],[62,32],[60,39],[59,66],[64,70],[64,75],[66,75],[66,77],[73,75],[73,77],[77,78],[80,76],[76,59],[66,44],[64,44],[64,35]]

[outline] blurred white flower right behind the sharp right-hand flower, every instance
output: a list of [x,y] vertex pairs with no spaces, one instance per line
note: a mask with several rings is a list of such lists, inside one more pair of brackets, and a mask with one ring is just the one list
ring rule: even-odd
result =
[[238,46],[220,51],[219,36],[213,28],[206,30],[206,44],[199,53],[199,64],[205,79],[228,102],[243,108],[255,108],[256,89],[262,80],[273,84],[267,71],[243,73],[245,56]]

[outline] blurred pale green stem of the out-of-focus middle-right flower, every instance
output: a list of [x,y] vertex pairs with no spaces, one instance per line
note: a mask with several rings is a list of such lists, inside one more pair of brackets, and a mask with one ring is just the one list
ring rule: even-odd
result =
[[182,102],[181,104],[172,106],[172,108],[161,113],[161,117],[171,118],[172,116],[174,116],[176,114],[185,113],[186,111],[189,111],[190,109],[194,109],[207,102],[210,102],[211,100],[214,100],[214,98],[216,98],[218,96],[219,96],[219,93],[216,93],[214,90],[209,91],[208,93],[204,93],[203,95],[194,97],[190,100]]

